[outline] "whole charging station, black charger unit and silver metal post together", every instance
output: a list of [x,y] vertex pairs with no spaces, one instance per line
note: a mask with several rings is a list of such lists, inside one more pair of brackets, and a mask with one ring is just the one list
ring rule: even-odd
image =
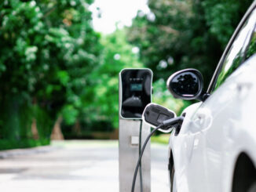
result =
[[[152,102],[152,71],[123,69],[119,73],[119,191],[130,191],[133,173],[151,128],[142,121],[144,108]],[[151,191],[150,142],[144,150],[135,191]]]

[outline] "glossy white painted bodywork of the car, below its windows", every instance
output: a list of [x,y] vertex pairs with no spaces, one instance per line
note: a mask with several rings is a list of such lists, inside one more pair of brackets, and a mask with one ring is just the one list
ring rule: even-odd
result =
[[205,102],[183,112],[180,133],[170,136],[177,191],[231,191],[239,154],[245,152],[256,165],[255,71],[256,55]]

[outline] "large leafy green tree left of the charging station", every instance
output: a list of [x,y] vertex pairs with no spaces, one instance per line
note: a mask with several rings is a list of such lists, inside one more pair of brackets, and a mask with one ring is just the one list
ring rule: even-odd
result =
[[100,34],[91,26],[92,2],[1,2],[2,139],[31,138],[35,118],[40,138],[49,141],[57,115],[72,124],[81,114],[82,99],[90,89],[88,77],[101,51]]

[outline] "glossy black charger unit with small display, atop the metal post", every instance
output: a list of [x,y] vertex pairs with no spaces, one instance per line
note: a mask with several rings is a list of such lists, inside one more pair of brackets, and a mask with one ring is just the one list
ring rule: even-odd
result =
[[121,72],[123,118],[141,118],[144,107],[151,103],[152,71],[125,69]]

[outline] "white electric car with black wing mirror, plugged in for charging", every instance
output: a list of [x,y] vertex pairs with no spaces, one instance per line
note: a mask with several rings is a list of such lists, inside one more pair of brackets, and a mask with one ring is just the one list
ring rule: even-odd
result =
[[170,190],[256,191],[256,2],[227,45],[207,92],[199,71],[170,76],[176,98],[199,100],[170,136]]

